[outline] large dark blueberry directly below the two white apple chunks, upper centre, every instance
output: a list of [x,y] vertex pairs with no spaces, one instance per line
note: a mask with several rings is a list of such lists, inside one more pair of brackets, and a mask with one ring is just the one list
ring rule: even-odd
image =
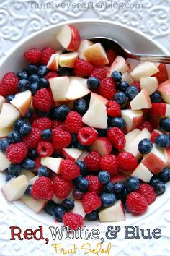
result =
[[52,109],[52,117],[53,119],[65,121],[66,116],[70,111],[71,111],[70,108],[67,105],[63,104]]

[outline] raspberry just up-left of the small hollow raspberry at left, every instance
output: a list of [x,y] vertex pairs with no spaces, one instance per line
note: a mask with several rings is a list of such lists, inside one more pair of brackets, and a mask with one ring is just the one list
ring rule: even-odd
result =
[[28,148],[37,148],[37,145],[41,140],[41,131],[40,129],[33,127],[30,134],[23,136],[22,139]]

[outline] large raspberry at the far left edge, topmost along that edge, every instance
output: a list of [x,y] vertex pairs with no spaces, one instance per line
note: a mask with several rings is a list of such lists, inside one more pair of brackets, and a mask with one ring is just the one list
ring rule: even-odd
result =
[[8,72],[2,77],[0,83],[0,95],[6,97],[8,95],[14,95],[19,93],[19,89],[17,87],[19,82],[18,77],[14,74],[14,72]]

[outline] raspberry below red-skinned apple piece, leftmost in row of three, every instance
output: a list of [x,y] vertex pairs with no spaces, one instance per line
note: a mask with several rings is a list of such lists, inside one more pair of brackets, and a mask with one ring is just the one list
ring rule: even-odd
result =
[[84,158],[84,163],[89,171],[99,171],[100,169],[100,155],[96,151],[92,151]]

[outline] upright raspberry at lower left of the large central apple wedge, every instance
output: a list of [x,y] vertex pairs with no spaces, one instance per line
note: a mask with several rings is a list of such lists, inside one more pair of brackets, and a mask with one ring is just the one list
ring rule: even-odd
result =
[[78,112],[71,111],[68,113],[65,120],[65,129],[67,132],[77,133],[83,125],[82,117]]

